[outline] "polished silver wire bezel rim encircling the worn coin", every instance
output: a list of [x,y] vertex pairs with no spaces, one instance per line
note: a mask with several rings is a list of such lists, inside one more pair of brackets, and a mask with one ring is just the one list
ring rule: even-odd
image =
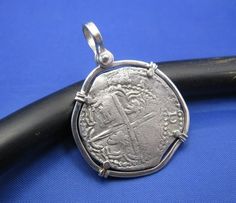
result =
[[[136,60],[122,60],[122,61],[114,61],[109,67],[104,67],[102,66],[97,66],[93,71],[88,75],[88,77],[85,79],[82,88],[80,90],[80,94],[87,96],[89,94],[90,88],[95,80],[95,78],[103,73],[104,71],[110,70],[112,68],[122,68],[122,67],[137,67],[137,68],[144,68],[144,69],[149,69],[153,63],[146,63],[143,61],[136,61]],[[179,90],[177,87],[174,85],[174,83],[162,72],[158,69],[158,67],[155,69],[155,74],[157,74],[159,77],[161,77],[168,85],[169,87],[174,91],[175,95],[177,96],[181,107],[184,112],[184,125],[183,125],[183,130],[182,134],[187,135],[188,129],[189,129],[189,123],[190,123],[190,116],[189,116],[189,111],[188,107],[180,94]],[[102,169],[102,163],[101,165],[98,165],[96,161],[93,160],[93,158],[90,156],[89,152],[86,150],[83,141],[80,136],[80,129],[78,125],[78,119],[79,119],[79,114],[80,110],[83,106],[83,101],[77,100],[73,109],[72,113],[72,119],[71,119],[71,129],[72,133],[75,139],[75,142],[84,157],[84,159],[88,162],[88,164],[96,170],[98,173]],[[137,171],[119,171],[119,170],[113,170],[113,169],[108,169],[106,171],[107,175],[112,176],[112,177],[122,177],[122,178],[129,178],[129,177],[138,177],[138,176],[144,176],[144,175],[149,175],[151,173],[157,172],[160,169],[162,169],[171,159],[171,157],[174,155],[176,150],[179,148],[181,145],[182,141],[179,138],[176,138],[175,141],[172,143],[171,147],[166,151],[165,155],[162,157],[161,161],[152,168],[144,169],[144,170],[137,170]]]

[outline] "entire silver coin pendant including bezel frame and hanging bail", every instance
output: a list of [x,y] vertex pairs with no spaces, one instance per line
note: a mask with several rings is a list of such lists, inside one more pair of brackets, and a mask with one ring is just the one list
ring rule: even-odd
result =
[[93,23],[84,32],[98,66],[75,97],[72,132],[82,155],[104,177],[160,170],[187,138],[181,94],[154,63],[113,61]]

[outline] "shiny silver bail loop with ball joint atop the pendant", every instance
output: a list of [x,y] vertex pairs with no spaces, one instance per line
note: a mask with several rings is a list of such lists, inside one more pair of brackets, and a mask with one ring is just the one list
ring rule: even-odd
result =
[[86,23],[83,25],[83,33],[88,45],[94,52],[96,63],[101,67],[110,66],[114,57],[110,51],[105,49],[102,35],[97,26],[93,22]]

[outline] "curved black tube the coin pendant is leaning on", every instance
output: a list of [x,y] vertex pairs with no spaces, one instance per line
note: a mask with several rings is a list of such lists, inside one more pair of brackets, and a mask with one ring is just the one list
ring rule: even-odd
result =
[[[185,99],[236,93],[236,57],[158,63]],[[0,171],[32,146],[72,136],[70,118],[81,82],[59,90],[0,121]]]

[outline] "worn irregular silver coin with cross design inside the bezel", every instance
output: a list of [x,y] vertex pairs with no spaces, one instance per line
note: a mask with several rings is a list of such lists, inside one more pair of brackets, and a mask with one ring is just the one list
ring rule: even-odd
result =
[[184,122],[178,97],[160,76],[124,67],[95,79],[78,125],[94,160],[135,171],[156,166]]

